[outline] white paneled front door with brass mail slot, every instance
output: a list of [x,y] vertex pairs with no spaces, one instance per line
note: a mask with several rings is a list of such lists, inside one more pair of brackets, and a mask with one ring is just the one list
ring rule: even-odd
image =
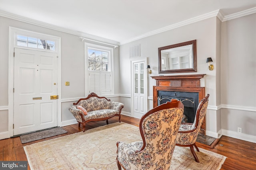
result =
[[14,135],[56,127],[57,53],[14,53]]

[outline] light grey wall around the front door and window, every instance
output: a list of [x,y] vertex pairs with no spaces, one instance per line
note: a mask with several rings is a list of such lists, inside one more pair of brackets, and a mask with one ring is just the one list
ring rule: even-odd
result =
[[[68,107],[79,98],[88,95],[85,92],[85,74],[84,74],[84,42],[77,35],[24,23],[0,16],[0,139],[12,136],[8,134],[8,49],[9,49],[9,26],[35,31],[48,35],[61,37],[61,82],[62,82],[62,125],[76,123],[74,117],[68,111]],[[91,41],[87,41],[93,43]],[[95,42],[94,42],[95,43]],[[95,43],[99,44],[99,43]],[[105,44],[100,44],[105,45]],[[105,45],[107,47],[112,47]],[[115,94],[119,94],[119,48],[114,49],[114,74],[117,76],[114,82]],[[70,86],[65,86],[69,81]],[[112,101],[119,100],[119,97],[110,98]]]

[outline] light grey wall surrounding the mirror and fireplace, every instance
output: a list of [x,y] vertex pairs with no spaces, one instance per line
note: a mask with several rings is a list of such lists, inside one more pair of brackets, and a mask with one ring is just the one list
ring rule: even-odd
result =
[[[130,77],[130,56],[129,47],[140,44],[140,57],[148,57],[148,64],[151,67],[152,74],[148,74],[148,96],[153,96],[153,86],[156,80],[150,76],[158,74],[158,47],[182,43],[196,39],[197,45],[197,72],[191,73],[173,73],[160,75],[177,75],[177,74],[207,74],[203,79],[206,86],[206,94],[210,94],[209,105],[216,107],[216,69],[213,71],[208,69],[206,63],[207,57],[212,57],[213,64],[216,63],[216,17],[202,20],[196,23],[185,25],[176,29],[172,29],[163,33],[158,33],[150,37],[145,37],[120,46],[120,91],[122,94],[130,95],[131,93],[131,77]],[[140,57],[137,57],[140,59]],[[133,58],[134,59],[134,58]],[[202,83],[203,84],[203,83]],[[130,105],[130,100],[124,100],[124,106]],[[220,103],[220,102],[219,102]],[[152,109],[153,100],[148,100],[148,110]],[[128,110],[129,111],[129,110]],[[212,110],[216,119],[216,110]],[[208,113],[207,113],[208,114]],[[207,131],[217,133],[216,121],[212,125],[212,119],[207,119]]]

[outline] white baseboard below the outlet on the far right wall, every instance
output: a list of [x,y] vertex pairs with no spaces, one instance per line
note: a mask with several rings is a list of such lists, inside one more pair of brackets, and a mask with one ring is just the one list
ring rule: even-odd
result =
[[256,143],[256,136],[252,136],[252,135],[246,135],[246,134],[243,134],[243,133],[237,133],[237,132],[228,131],[228,130],[225,130],[225,129],[222,129],[222,135],[232,137],[232,138],[236,138],[236,139],[240,139],[240,140],[243,140],[243,141]]

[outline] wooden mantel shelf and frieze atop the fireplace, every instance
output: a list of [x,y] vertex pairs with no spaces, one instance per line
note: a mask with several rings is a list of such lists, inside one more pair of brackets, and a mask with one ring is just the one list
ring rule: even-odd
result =
[[200,87],[200,79],[206,74],[189,74],[176,76],[151,76],[156,86]]

